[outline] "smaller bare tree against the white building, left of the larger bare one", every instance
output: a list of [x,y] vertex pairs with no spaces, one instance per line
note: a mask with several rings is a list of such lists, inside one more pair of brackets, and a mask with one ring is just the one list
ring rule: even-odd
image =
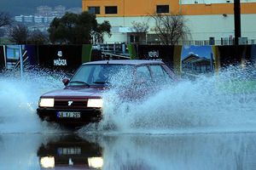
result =
[[146,34],[149,28],[148,23],[132,21],[131,24],[132,27],[129,28],[129,30],[133,33],[133,35],[131,35],[131,42],[146,42]]

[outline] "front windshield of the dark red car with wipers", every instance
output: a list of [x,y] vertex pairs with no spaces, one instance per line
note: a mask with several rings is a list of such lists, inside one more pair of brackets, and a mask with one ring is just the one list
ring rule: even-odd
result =
[[68,86],[131,86],[134,65],[82,65]]

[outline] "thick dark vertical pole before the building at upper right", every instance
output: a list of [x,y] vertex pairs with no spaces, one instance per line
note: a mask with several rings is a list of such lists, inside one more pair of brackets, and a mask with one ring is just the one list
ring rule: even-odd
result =
[[241,37],[241,8],[240,0],[234,1],[235,12],[235,45],[239,45],[239,37]]

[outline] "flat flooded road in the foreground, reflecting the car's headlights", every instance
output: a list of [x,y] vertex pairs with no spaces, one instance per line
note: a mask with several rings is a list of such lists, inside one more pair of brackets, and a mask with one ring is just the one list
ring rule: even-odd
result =
[[253,169],[256,133],[0,135],[1,169]]

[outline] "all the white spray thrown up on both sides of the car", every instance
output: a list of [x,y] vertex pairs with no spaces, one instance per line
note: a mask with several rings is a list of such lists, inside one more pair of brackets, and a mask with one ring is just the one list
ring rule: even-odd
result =
[[[103,120],[79,132],[114,133],[215,133],[255,131],[255,77],[250,67],[230,66],[218,75],[205,75],[161,89],[137,102],[123,102],[119,84],[103,94]],[[51,76],[50,76],[51,75]],[[58,132],[54,123],[36,114],[38,97],[62,88],[64,74],[25,72],[0,77],[0,133]],[[125,74],[118,80],[125,82]],[[117,81],[117,80],[114,80]]]

